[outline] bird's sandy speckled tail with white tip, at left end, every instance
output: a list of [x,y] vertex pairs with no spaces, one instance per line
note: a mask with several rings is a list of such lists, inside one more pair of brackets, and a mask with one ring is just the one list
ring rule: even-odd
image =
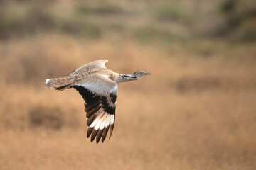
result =
[[62,91],[73,86],[73,83],[73,77],[46,79],[45,88],[54,88],[55,90]]

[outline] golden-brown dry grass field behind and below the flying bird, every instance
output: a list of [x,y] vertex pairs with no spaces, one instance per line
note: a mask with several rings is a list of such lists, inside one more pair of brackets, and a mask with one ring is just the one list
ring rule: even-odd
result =
[[[255,45],[202,44],[1,42],[0,169],[255,169]],[[112,139],[97,145],[80,95],[43,84],[101,58],[153,75],[119,84]]]

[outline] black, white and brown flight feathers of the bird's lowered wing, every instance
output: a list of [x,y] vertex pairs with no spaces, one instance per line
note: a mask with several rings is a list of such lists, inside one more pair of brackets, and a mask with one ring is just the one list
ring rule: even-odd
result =
[[117,96],[112,93],[100,96],[83,86],[73,86],[85,101],[85,112],[87,117],[87,137],[91,135],[91,142],[96,137],[96,142],[104,142],[110,128],[110,137],[114,129],[115,103]]

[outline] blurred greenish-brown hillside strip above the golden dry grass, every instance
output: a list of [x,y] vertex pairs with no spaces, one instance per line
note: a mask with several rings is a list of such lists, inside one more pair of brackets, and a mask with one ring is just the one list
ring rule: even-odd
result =
[[255,41],[253,1],[1,1],[0,38],[64,33],[143,42],[218,37]]

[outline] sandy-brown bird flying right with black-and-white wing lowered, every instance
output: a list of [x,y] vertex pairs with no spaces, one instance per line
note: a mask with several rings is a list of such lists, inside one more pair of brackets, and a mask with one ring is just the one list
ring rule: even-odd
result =
[[[117,84],[125,81],[141,79],[150,72],[136,71],[133,74],[119,74],[106,68],[108,60],[96,60],[85,64],[67,76],[46,79],[45,88],[57,91],[76,89],[85,101],[87,118],[87,138],[96,138],[98,143],[105,141],[107,132],[109,139],[114,129],[115,110],[117,101]],[[109,130],[110,129],[110,130]]]

